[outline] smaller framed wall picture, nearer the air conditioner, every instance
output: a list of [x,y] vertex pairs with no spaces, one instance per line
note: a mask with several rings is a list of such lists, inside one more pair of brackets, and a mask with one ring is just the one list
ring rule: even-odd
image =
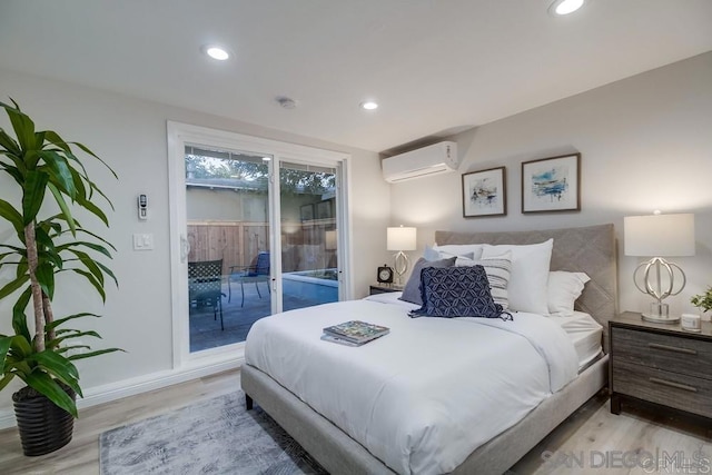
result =
[[463,216],[505,216],[507,214],[504,167],[463,174]]

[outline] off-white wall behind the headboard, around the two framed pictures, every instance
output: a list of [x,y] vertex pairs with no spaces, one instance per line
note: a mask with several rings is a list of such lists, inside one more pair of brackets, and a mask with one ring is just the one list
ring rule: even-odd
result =
[[[392,187],[392,220],[435,229],[525,230],[613,222],[619,239],[620,308],[646,309],[632,281],[642,259],[623,256],[623,217],[694,212],[696,255],[672,259],[688,286],[666,301],[691,311],[712,285],[712,52],[553,102],[454,137],[459,172]],[[521,162],[582,154],[581,212],[522,215]],[[463,218],[461,175],[506,166],[505,217]],[[417,253],[413,253],[414,257]]]

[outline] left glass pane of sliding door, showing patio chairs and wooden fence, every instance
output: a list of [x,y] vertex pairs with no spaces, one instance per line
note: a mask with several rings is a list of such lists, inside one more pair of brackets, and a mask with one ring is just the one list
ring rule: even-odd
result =
[[270,315],[271,156],[185,147],[190,352],[244,342]]

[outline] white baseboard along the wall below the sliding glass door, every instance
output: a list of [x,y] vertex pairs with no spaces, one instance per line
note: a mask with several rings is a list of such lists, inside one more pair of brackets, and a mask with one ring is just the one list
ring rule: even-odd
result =
[[[190,379],[200,378],[208,375],[235,369],[243,366],[245,358],[240,355],[229,360],[216,360],[200,366],[185,367],[180,369],[168,369],[165,372],[142,375],[136,378],[125,379],[102,386],[96,386],[85,390],[85,397],[77,400],[77,408],[91,407],[122,397],[136,396],[161,387],[185,383]],[[81,416],[81,415],[80,415]],[[0,410],[0,429],[14,427],[14,410],[8,408]]]

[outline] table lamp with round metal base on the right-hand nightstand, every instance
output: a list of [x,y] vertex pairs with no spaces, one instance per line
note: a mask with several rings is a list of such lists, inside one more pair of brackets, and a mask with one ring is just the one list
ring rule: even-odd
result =
[[[685,273],[665,257],[694,256],[694,215],[661,215],[624,218],[624,241],[626,256],[652,257],[633,273],[635,287],[655,298],[650,311],[643,313],[646,321],[674,324],[680,316],[670,316],[663,299],[678,295],[685,287]],[[675,274],[681,277],[675,280]],[[679,288],[676,288],[679,285]]]

